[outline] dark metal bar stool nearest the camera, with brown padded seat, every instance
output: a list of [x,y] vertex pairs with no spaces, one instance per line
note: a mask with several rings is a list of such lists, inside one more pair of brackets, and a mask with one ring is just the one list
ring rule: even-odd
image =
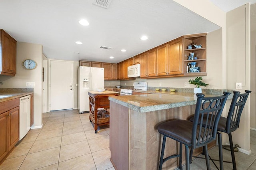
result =
[[[197,93],[196,109],[194,122],[186,120],[173,120],[158,125],[158,132],[163,134],[162,151],[160,156],[159,170],[162,170],[162,164],[170,158],[179,157],[179,168],[182,169],[182,144],[185,145],[186,170],[189,170],[189,148],[199,148],[202,146],[205,150],[207,169],[210,170],[207,144],[216,139],[217,125],[222,114],[222,110],[230,93],[223,92],[224,95],[217,97],[204,97],[204,94]],[[198,119],[205,117],[211,125],[203,127],[198,125]],[[164,148],[166,137],[180,142],[180,153],[164,158]]]

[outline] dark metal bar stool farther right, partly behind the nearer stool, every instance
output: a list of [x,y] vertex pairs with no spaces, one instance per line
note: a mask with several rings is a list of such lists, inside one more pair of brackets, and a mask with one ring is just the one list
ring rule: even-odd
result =
[[[220,161],[220,170],[223,170],[223,162],[228,162],[228,161],[223,161],[222,133],[220,132],[224,132],[228,134],[229,143],[230,143],[230,152],[232,157],[232,162],[228,162],[228,163],[232,163],[233,169],[236,170],[236,159],[234,154],[234,147],[233,147],[231,132],[234,132],[239,127],[240,117],[242,115],[242,111],[244,109],[245,103],[250,93],[251,91],[249,90],[246,90],[245,93],[243,94],[240,94],[239,91],[233,91],[234,95],[228,111],[228,117],[220,117],[220,121],[217,128],[218,143],[219,143],[219,158],[220,158],[220,160],[218,161]],[[195,115],[191,115],[190,117],[188,117],[188,120],[193,122],[194,116]],[[206,119],[201,119],[201,120],[203,121],[203,126],[205,126],[206,124],[209,125],[208,123],[206,123]],[[193,149],[190,150],[190,162],[192,160],[192,154],[193,154]]]

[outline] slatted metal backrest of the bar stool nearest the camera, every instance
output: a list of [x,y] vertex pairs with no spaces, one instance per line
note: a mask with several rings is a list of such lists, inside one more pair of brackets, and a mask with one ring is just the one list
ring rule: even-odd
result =
[[202,93],[196,94],[198,99],[196,102],[191,141],[193,148],[205,146],[207,143],[216,139],[218,122],[228,95],[230,95],[228,92],[223,92],[223,94],[218,97],[204,97]]

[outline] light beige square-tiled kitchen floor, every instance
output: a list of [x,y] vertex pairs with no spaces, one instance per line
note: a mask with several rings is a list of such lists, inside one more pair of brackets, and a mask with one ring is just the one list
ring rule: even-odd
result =
[[[95,134],[89,114],[79,114],[77,110],[43,113],[43,123],[43,128],[28,132],[0,165],[0,170],[114,170],[110,162],[108,126],[100,127]],[[253,130],[251,150],[251,155],[235,152],[238,170],[256,170],[256,131]],[[209,154],[218,159],[218,147]],[[223,155],[224,160],[231,160],[228,150],[223,150]],[[205,170],[205,160],[194,159],[190,169]],[[216,170],[212,163],[211,169]],[[224,169],[231,170],[232,164],[224,163]]]

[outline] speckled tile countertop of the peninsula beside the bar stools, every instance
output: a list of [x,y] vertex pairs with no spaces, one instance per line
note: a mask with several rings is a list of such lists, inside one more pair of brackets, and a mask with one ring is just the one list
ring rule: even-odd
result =
[[[230,91],[228,91],[230,92]],[[230,92],[228,99],[232,99],[233,93]],[[205,94],[205,97],[219,96],[221,94]],[[158,94],[144,95],[125,95],[109,97],[110,101],[133,109],[137,112],[150,112],[174,107],[196,104],[196,95],[194,93],[184,92],[161,92]]]

